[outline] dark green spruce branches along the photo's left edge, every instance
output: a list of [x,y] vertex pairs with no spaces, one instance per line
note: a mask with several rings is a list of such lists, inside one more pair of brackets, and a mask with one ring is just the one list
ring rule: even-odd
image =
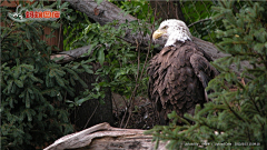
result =
[[[28,10],[53,7],[61,13],[68,6],[20,3]],[[73,96],[75,80],[83,83],[78,76],[83,69],[78,69],[80,63],[61,66],[50,60],[52,47],[40,37],[44,27],[58,29],[58,22],[16,22],[8,12],[1,7],[1,149],[42,149],[72,132],[66,96]]]

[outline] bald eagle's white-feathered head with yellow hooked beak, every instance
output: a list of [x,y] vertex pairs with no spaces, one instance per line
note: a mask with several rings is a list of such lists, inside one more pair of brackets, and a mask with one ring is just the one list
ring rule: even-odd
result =
[[177,41],[191,41],[192,36],[185,22],[176,19],[169,19],[161,22],[159,29],[152,34],[154,40],[160,37],[167,39],[165,47],[168,47],[175,46]]

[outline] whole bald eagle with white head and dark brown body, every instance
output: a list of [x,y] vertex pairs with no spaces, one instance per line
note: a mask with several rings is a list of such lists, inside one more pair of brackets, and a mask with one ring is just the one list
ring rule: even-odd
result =
[[159,123],[167,124],[171,111],[180,117],[194,116],[196,104],[204,107],[208,101],[205,88],[218,71],[209,63],[211,57],[192,42],[185,22],[161,22],[152,39],[160,37],[167,42],[149,62],[148,97],[158,111]]

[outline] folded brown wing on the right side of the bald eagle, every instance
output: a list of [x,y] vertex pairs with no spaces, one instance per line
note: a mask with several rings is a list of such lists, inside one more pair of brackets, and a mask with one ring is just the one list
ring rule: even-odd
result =
[[202,56],[202,53],[195,52],[190,57],[190,63],[195,71],[195,74],[201,81],[204,88],[208,87],[208,82],[214,79],[219,72],[214,68],[209,61]]

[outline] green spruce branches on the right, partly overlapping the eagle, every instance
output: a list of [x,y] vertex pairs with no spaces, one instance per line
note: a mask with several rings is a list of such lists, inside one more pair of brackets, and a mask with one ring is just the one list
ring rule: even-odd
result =
[[[212,20],[224,22],[216,32],[221,40],[217,46],[230,54],[214,62],[220,71],[207,88],[214,90],[214,101],[204,109],[198,106],[195,117],[186,116],[194,126],[185,120],[186,126],[176,126],[179,118],[169,114],[174,123],[154,128],[155,140],[169,140],[169,149],[267,149],[266,8],[266,1],[221,1],[212,7]],[[241,66],[244,61],[249,66]]]

